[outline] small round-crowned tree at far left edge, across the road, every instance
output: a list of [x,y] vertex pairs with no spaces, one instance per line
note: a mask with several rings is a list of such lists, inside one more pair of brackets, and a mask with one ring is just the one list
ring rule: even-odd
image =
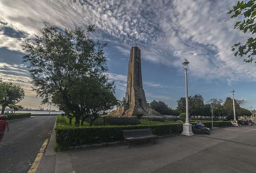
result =
[[19,85],[16,86],[12,83],[5,83],[2,82],[2,80],[0,80],[0,89],[0,105],[2,106],[2,115],[4,114],[6,106],[17,104],[24,98],[25,94],[23,88],[21,88]]

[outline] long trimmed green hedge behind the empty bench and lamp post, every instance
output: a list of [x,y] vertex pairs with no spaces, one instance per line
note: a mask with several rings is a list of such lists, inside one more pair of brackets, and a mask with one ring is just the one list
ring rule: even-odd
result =
[[[197,121],[190,121],[196,124]],[[208,128],[212,127],[211,121],[204,121]],[[164,136],[170,134],[181,134],[184,123],[156,124],[156,125],[125,125],[125,126],[92,126],[71,127],[58,115],[56,120],[56,144],[59,150],[67,150],[72,145],[98,144],[124,140],[122,130],[151,128],[153,134]],[[214,122],[214,127],[231,126],[230,121]]]

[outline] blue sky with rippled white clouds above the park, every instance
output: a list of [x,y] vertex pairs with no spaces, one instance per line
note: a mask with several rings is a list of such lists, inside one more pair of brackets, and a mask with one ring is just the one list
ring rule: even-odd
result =
[[[133,46],[141,50],[146,100],[163,101],[176,109],[186,96],[183,59],[188,65],[188,96],[245,100],[256,109],[256,64],[234,57],[232,45],[245,43],[251,33],[234,29],[241,18],[227,14],[236,0],[1,0],[0,77],[24,88],[18,105],[38,109],[41,98],[32,91],[22,57],[22,41],[40,35],[45,24],[60,29],[95,25],[91,37],[102,43],[108,75],[116,98],[126,92],[128,61]],[[255,37],[255,36],[254,36]]]

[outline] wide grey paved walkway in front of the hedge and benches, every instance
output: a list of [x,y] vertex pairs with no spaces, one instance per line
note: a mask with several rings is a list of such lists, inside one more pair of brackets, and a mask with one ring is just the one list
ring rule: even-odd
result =
[[211,135],[54,152],[53,131],[36,173],[256,172],[256,126],[214,128]]

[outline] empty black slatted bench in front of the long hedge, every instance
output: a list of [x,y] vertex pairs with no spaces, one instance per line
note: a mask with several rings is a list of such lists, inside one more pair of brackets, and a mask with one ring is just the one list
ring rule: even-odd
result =
[[150,139],[153,139],[156,144],[155,138],[158,137],[152,134],[152,130],[150,128],[136,129],[136,130],[122,130],[122,131],[125,139],[124,145],[127,142],[129,148],[130,148],[129,141],[137,141],[137,140],[150,141]]

